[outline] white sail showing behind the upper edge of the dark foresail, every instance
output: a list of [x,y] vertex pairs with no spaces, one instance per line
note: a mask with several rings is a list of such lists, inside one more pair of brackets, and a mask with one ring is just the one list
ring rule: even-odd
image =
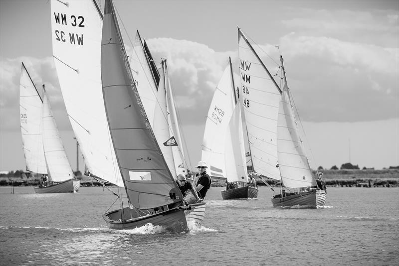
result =
[[157,106],[157,82],[153,76],[150,62],[146,56],[139,31],[133,43],[133,53],[129,57],[137,91],[146,111],[151,127],[154,126],[155,108]]

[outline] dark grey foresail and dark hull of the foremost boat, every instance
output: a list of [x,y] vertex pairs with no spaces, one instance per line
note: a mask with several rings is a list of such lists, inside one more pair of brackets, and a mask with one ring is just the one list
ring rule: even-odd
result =
[[187,231],[186,215],[204,202],[185,205],[137,91],[112,0],[105,1],[101,47],[103,97],[113,147],[129,207],[103,215],[113,229],[147,223]]

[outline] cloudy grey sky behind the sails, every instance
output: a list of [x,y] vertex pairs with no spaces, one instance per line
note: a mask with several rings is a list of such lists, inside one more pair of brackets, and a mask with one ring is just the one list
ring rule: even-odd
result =
[[[132,46],[139,30],[154,59],[168,59],[192,166],[200,160],[205,117],[229,56],[239,83],[237,25],[267,64],[274,64],[267,55],[276,62],[283,55],[312,167],[399,165],[398,0],[114,4],[125,45]],[[52,58],[50,15],[48,0],[0,0],[0,171],[25,168],[18,104],[21,61],[39,87],[46,85],[76,169],[76,142]]]

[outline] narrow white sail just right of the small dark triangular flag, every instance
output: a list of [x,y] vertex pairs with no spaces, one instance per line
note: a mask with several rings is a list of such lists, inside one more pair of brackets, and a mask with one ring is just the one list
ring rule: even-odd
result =
[[168,109],[168,124],[170,134],[175,137],[177,145],[172,146],[173,160],[175,162],[176,174],[186,174],[187,164],[184,156],[184,146],[182,134],[180,132],[179,120],[175,106],[175,99],[173,96],[173,89],[171,86],[171,80],[169,78],[168,67],[166,60],[164,60],[165,69],[165,85],[166,85],[166,105]]

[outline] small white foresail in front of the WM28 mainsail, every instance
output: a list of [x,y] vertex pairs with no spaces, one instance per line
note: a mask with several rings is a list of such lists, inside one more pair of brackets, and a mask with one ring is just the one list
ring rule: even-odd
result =
[[237,103],[226,132],[225,146],[226,176],[229,182],[248,182],[246,169],[244,134],[242,131],[241,105]]

